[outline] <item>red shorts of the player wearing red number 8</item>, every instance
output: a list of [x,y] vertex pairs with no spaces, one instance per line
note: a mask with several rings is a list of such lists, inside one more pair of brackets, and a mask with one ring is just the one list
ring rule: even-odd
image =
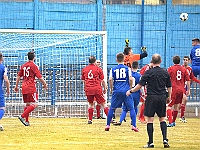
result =
[[183,91],[179,90],[179,91],[172,91],[172,95],[171,95],[171,102],[169,103],[169,107],[174,106],[174,104],[181,104],[182,103],[182,99],[183,99]]

